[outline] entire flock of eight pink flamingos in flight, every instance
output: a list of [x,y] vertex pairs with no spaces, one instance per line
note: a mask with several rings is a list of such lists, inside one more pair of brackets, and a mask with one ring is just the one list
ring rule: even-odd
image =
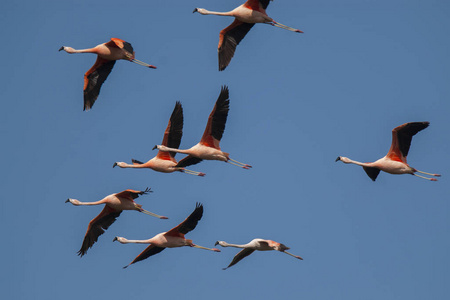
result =
[[[298,29],[280,24],[270,18],[265,11],[270,1],[272,0],[248,0],[241,6],[229,12],[213,12],[203,8],[196,8],[194,10],[194,13],[198,12],[202,15],[219,15],[235,18],[230,26],[220,31],[218,45],[219,71],[225,70],[225,68],[229,65],[234,56],[236,46],[250,31],[255,23],[268,24],[293,32],[302,33],[302,31]],[[95,64],[84,75],[84,110],[89,110],[94,105],[100,93],[100,88],[114,67],[116,60],[124,59],[148,68],[156,69],[153,65],[135,59],[131,44],[117,38],[112,38],[111,41],[90,49],[76,50],[71,47],[63,46],[59,50],[64,50],[70,54],[97,54]],[[229,104],[230,100],[228,87],[223,86],[216,104],[209,115],[208,123],[200,142],[190,149],[180,150],[178,147],[183,135],[183,108],[181,103],[177,102],[164,132],[161,145],[157,145],[153,148],[158,149],[158,154],[146,163],[132,159],[132,164],[116,162],[113,167],[150,168],[163,173],[183,172],[190,175],[204,176],[204,173],[189,170],[186,169],[186,167],[195,165],[202,160],[219,160],[243,169],[250,169],[250,165],[231,159],[229,153],[223,152],[219,146],[225,130]],[[411,174],[426,180],[436,181],[437,179],[434,177],[439,177],[441,175],[419,171],[409,166],[406,162],[412,137],[419,131],[427,128],[428,125],[429,122],[411,122],[394,128],[392,130],[391,148],[386,156],[375,162],[361,163],[343,156],[339,156],[336,161],[362,166],[364,171],[373,181],[375,181],[380,171],[390,174]],[[187,156],[177,162],[175,159],[176,153],[187,154]],[[421,173],[431,177],[425,177],[416,173]],[[107,230],[109,226],[114,223],[116,218],[120,216],[123,210],[136,210],[160,219],[167,219],[167,217],[160,216],[143,209],[142,205],[137,204],[134,201],[139,196],[148,194],[149,192],[151,192],[149,188],[143,191],[128,189],[120,193],[108,195],[102,200],[96,202],[81,202],[76,199],[67,199],[66,202],[70,202],[77,206],[105,204],[101,213],[89,223],[81,249],[78,251],[78,255],[85,255],[88,249],[91,248],[95,242],[97,242],[99,236],[102,235],[105,230]],[[194,244],[192,240],[185,238],[185,234],[195,229],[198,221],[202,218],[202,215],[203,205],[197,203],[194,211],[183,222],[167,232],[159,233],[147,240],[128,240],[124,237],[115,237],[114,241],[118,241],[122,244],[150,244],[129,265],[157,254],[165,248],[190,246],[220,252],[217,248],[202,247]],[[243,250],[236,254],[227,268],[235,265],[255,250],[277,250],[302,260],[300,256],[287,252],[286,250],[289,248],[284,244],[272,240],[253,239],[244,245],[229,244],[224,241],[217,241],[215,245],[220,245],[222,247],[243,248]]]

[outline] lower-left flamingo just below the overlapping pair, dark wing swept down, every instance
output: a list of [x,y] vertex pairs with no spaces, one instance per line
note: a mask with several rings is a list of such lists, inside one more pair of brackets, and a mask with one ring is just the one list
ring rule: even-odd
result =
[[78,251],[78,255],[81,257],[85,255],[89,248],[91,248],[98,240],[98,237],[116,221],[116,218],[120,216],[123,210],[137,210],[149,216],[167,219],[167,217],[160,216],[143,209],[142,205],[134,202],[134,199],[138,198],[140,195],[148,194],[149,192],[151,192],[149,188],[146,188],[144,191],[124,190],[120,193],[108,195],[102,200],[96,202],[81,202],[77,199],[67,199],[66,203],[70,202],[76,206],[105,204],[105,207],[101,213],[89,222],[89,226],[84,236],[81,249]]

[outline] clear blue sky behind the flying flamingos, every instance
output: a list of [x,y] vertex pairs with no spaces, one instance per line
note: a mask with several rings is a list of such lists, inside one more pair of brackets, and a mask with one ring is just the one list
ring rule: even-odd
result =
[[[450,295],[450,2],[276,0],[267,12],[303,30],[258,24],[218,71],[219,31],[240,0],[3,1],[0,96],[1,265],[4,299],[447,299]],[[157,70],[119,61],[83,112],[90,48],[117,37]],[[176,101],[181,148],[200,139],[222,85],[230,112],[221,146],[253,165],[202,162],[181,173],[112,168],[147,161]],[[380,173],[337,156],[375,161],[403,123],[429,121],[412,141],[411,166],[438,182]],[[177,155],[181,158],[183,155]],[[169,220],[124,212],[86,256],[76,252],[101,207],[124,189]],[[282,242],[222,271],[238,249],[167,249],[124,270],[147,239],[203,219],[187,237]]]

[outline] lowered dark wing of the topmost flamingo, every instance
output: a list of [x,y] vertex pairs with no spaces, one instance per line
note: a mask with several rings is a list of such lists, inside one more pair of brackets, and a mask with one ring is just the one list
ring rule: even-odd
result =
[[251,23],[244,23],[237,19],[230,26],[223,29],[219,34],[219,71],[225,70],[236,51],[236,46],[242,41],[245,35],[252,29]]

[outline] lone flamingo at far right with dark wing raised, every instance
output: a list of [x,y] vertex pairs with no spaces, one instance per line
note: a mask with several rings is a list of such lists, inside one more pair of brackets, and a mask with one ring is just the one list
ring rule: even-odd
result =
[[428,178],[415,173],[419,172],[436,177],[440,177],[441,175],[419,171],[406,163],[406,156],[408,155],[409,147],[411,146],[412,137],[419,131],[427,128],[428,125],[430,125],[429,122],[411,122],[395,127],[392,130],[392,144],[389,152],[385,157],[380,158],[375,162],[361,163],[343,156],[339,156],[336,161],[340,160],[346,164],[355,164],[363,167],[364,171],[366,171],[367,175],[369,175],[373,181],[377,179],[380,170],[390,174],[411,174],[423,179],[437,181],[436,178]]

